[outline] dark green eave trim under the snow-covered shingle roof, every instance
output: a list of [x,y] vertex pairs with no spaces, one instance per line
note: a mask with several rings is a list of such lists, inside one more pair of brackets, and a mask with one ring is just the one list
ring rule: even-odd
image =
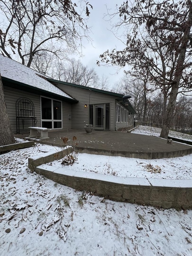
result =
[[6,77],[2,77],[2,82],[4,86],[13,88],[13,89],[17,89],[17,90],[21,90],[24,92],[30,92],[33,94],[37,94],[37,95],[41,95],[41,96],[45,96],[45,97],[49,97],[49,98],[54,98],[56,100],[60,100],[60,101],[65,101],[65,102],[70,102],[70,103],[77,103],[77,100],[74,99],[70,99],[52,92],[47,92],[43,89],[39,89],[37,87],[34,86],[30,86],[28,84],[25,83],[21,83]]

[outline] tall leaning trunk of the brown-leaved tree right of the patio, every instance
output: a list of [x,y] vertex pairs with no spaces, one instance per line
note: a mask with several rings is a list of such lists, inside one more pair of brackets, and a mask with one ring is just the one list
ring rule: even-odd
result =
[[181,47],[179,49],[180,53],[179,53],[179,58],[178,58],[178,62],[176,65],[174,83],[171,88],[167,111],[165,114],[165,119],[163,122],[161,134],[160,134],[160,137],[165,138],[165,139],[167,139],[167,137],[168,137],[171,121],[173,119],[174,107],[175,107],[176,98],[177,98],[177,94],[178,94],[179,83],[180,83],[182,72],[183,72],[183,63],[185,60],[187,43],[190,38],[190,28],[192,26],[192,4],[191,3],[190,3],[190,10],[189,10],[188,15],[189,16],[188,16],[187,22],[185,23],[185,29],[184,29]]

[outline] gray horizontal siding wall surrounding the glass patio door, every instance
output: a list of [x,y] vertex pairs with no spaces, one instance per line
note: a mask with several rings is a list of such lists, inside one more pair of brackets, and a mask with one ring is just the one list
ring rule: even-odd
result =
[[[115,96],[99,93],[99,92],[91,92],[86,89],[76,88],[69,85],[57,85],[59,89],[63,90],[71,97],[75,98],[79,102],[73,104],[71,107],[72,110],[72,128],[82,129],[85,124],[88,124],[88,109],[89,104],[104,104],[110,103],[110,130],[115,130]],[[87,107],[84,105],[87,104]]]

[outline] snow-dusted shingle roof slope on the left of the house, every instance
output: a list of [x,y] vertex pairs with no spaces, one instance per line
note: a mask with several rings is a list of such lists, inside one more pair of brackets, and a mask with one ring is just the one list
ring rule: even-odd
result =
[[9,59],[8,57],[4,57],[1,54],[0,72],[2,77],[73,100],[72,97],[43,78],[48,78],[47,76],[44,76],[43,74],[33,70],[32,68],[28,68],[19,62]]

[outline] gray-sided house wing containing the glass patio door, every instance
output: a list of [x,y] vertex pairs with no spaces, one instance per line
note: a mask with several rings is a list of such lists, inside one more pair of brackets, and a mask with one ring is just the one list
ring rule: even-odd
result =
[[128,100],[123,100],[124,95],[49,78],[48,81],[78,101],[71,106],[72,128],[92,124],[95,130],[115,131],[133,125],[136,112]]

